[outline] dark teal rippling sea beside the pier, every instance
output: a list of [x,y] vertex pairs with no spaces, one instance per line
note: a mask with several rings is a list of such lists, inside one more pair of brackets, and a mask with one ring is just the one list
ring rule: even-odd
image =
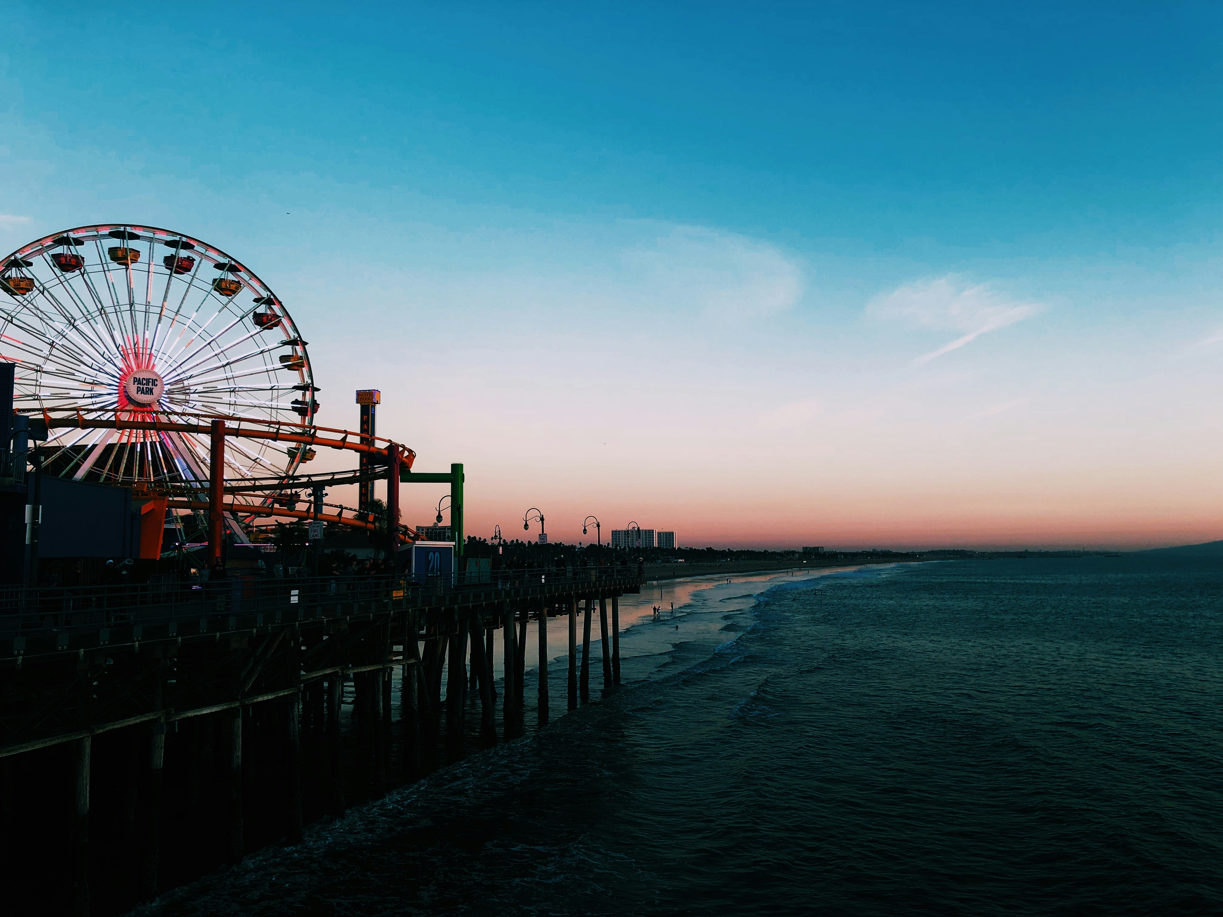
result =
[[619,696],[138,913],[1223,913],[1219,561],[679,594]]

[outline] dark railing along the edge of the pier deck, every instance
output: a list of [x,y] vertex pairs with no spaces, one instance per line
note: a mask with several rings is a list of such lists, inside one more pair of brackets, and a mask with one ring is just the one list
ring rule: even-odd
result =
[[636,592],[638,566],[0,587],[0,659],[196,637],[364,611],[462,606],[575,591]]

